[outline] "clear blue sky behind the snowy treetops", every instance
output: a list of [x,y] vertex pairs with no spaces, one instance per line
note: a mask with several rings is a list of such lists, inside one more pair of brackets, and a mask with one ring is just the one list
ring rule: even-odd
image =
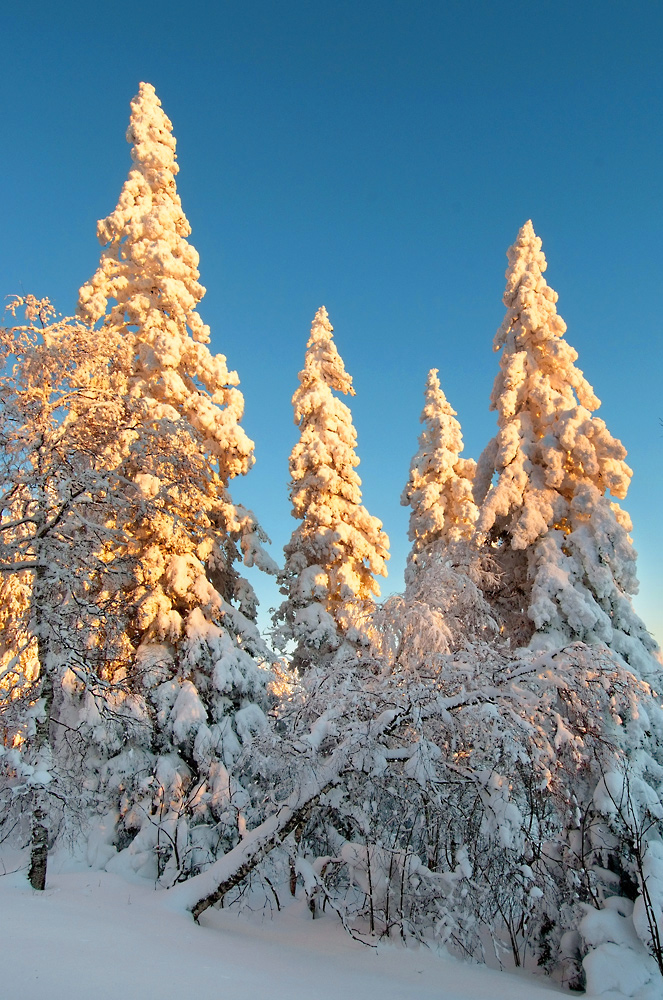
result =
[[[531,218],[599,411],[635,470],[636,600],[663,637],[663,4],[381,0],[3,4],[2,293],[74,308],[146,80],[174,123],[212,347],[257,464],[233,490],[289,537],[290,397],[324,304],[357,390],[364,500],[401,588],[426,373],[465,454],[494,433],[504,256]],[[263,604],[278,600],[260,585]]]

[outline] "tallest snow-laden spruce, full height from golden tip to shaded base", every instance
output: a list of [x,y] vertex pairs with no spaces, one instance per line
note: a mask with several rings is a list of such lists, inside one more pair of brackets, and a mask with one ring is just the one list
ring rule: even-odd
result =
[[133,168],[99,223],[101,262],[79,298],[83,317],[130,347],[144,443],[121,441],[116,457],[131,453],[131,478],[159,510],[131,532],[132,678],[151,728],[130,740],[121,726],[108,732],[88,720],[100,802],[114,801],[96,853],[105,860],[127,848],[139,869],[167,880],[204,866],[250,821],[250,795],[234,771],[242,744],[265,725],[271,654],[234,564],[241,549],[247,565],[276,571],[254,516],[228,492],[251,467],[253,443],[240,424],[237,374],[210,353],[196,311],[205,290],[171,133],[154,88],[141,84],[127,132]]

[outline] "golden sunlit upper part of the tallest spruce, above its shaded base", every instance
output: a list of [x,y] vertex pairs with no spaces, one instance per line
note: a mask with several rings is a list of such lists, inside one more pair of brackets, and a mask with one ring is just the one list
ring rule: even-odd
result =
[[[142,83],[127,131],[134,166],[117,208],[99,223],[101,262],[79,298],[81,315],[103,320],[102,328],[118,331],[128,345],[128,389],[142,399],[143,423],[153,438],[142,448],[133,444],[133,478],[163,508],[138,532],[141,583],[149,591],[140,627],[158,621],[159,640],[181,634],[177,607],[183,602],[214,614],[220,599],[237,601],[255,614],[255,595],[233,568],[240,552],[247,565],[276,571],[255,517],[235,506],[227,491],[228,481],[251,467],[253,442],[240,424],[244,399],[237,374],[205,346],[209,328],[196,311],[205,289],[198,282],[198,254],[186,239],[190,226],[175,186],[179,166],[171,133],[154,88]],[[164,430],[171,437],[170,462],[158,447]],[[208,593],[210,586],[217,597]]]

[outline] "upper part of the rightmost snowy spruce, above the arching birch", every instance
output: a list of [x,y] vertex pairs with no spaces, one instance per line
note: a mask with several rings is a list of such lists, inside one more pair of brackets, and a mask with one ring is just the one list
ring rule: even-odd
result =
[[637,589],[631,522],[607,496],[626,496],[626,449],[593,415],[599,400],[564,340],[531,222],[507,256],[491,397],[499,430],[475,478],[477,532],[502,573],[498,610],[519,644],[533,633],[550,647],[605,642],[650,678],[656,645],[630,600]]

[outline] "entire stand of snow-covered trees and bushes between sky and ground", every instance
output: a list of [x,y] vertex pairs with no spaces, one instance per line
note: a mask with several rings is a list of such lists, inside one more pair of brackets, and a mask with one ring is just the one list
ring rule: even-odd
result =
[[[305,895],[398,934],[639,1000],[663,974],[661,662],[635,614],[626,451],[564,339],[530,222],[508,251],[498,431],[478,466],[432,369],[402,502],[361,503],[352,380],[324,308],[293,397],[279,568],[148,84],[79,317],[0,336],[5,836],[129,864],[196,919]],[[240,560],[278,574],[266,639]],[[177,883],[177,884],[176,884]],[[626,985],[625,985],[626,984]]]

